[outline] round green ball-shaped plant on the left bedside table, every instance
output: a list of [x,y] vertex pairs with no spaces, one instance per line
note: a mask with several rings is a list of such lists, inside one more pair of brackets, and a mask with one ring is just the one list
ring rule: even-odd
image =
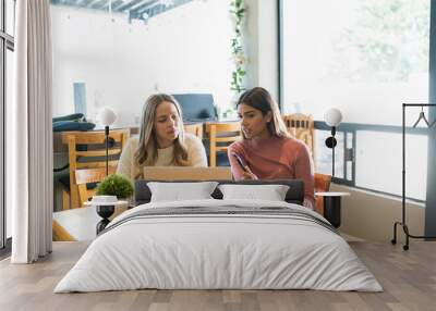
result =
[[96,195],[117,196],[119,199],[126,199],[133,196],[133,185],[124,175],[112,174],[98,184]]

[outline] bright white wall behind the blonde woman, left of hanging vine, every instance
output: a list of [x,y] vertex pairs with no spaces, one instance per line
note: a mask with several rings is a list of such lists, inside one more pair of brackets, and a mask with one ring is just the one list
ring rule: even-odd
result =
[[117,125],[135,124],[153,92],[211,92],[230,103],[232,62],[230,0],[193,1],[153,16],[128,16],[51,5],[53,115],[74,112],[73,83],[86,84],[87,115],[118,113]]

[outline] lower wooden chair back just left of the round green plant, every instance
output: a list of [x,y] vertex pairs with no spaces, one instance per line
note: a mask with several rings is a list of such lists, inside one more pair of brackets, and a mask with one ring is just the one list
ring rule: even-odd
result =
[[[116,173],[116,166],[108,166],[108,174]],[[88,189],[87,184],[101,182],[106,177],[106,167],[83,169],[75,171],[75,182],[78,188],[78,202],[82,207],[95,194],[95,188]]]

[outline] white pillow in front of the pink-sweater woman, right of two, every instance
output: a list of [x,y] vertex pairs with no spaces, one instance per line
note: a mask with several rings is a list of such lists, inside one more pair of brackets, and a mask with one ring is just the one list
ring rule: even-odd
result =
[[289,186],[286,185],[219,185],[225,200],[255,199],[284,201]]

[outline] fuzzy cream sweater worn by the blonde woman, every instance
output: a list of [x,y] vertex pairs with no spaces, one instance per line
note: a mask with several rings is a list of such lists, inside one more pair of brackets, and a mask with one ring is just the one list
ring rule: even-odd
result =
[[[137,150],[140,137],[131,137],[121,153],[117,166],[117,174],[123,174],[132,182],[143,176],[143,167],[136,165],[135,152]],[[184,142],[187,147],[187,166],[207,166],[206,150],[202,140],[190,133],[184,134]],[[165,149],[158,149],[157,161],[154,166],[177,166],[173,163],[174,146]]]

